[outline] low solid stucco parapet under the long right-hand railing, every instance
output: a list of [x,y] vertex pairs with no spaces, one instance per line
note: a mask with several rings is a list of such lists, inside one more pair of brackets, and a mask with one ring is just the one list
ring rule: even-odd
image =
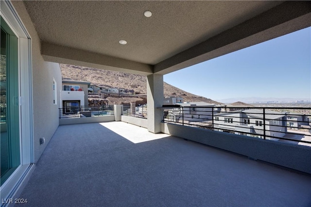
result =
[[311,174],[311,148],[273,140],[234,135],[190,126],[161,123],[165,134],[217,147],[250,159]]

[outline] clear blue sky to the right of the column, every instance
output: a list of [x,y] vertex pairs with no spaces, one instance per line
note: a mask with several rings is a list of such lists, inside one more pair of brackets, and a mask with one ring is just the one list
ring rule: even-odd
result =
[[213,100],[311,98],[311,27],[164,75]]

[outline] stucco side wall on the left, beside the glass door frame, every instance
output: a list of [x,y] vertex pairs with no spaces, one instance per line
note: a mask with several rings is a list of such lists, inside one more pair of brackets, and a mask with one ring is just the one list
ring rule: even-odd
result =
[[[34,108],[34,155],[35,162],[58,127],[58,108],[62,76],[59,64],[45,62],[40,53],[40,39],[22,1],[12,1],[19,17],[32,38],[33,108]],[[57,100],[53,104],[53,79],[56,82]],[[40,145],[39,139],[45,143]]]

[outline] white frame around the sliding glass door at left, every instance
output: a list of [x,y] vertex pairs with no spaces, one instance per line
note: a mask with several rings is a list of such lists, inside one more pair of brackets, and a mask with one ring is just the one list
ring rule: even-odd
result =
[[[1,185],[2,199],[14,198],[34,169],[34,124],[31,36],[11,1],[1,0],[0,15],[17,36],[20,165]],[[5,206],[6,204],[3,204]]]

